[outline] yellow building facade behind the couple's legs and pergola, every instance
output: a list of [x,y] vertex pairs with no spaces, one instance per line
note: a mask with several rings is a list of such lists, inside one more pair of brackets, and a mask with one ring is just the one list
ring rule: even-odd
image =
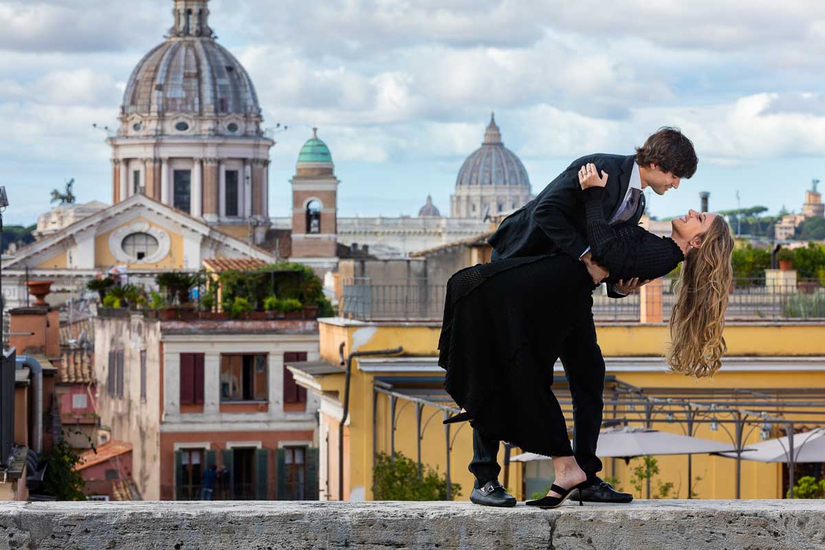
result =
[[[320,482],[322,494],[325,493],[328,499],[341,498],[338,487],[339,471],[342,471],[344,500],[370,500],[375,453],[389,454],[394,449],[416,460],[417,433],[422,434],[421,462],[437,468],[442,474],[448,470],[448,435],[441,420],[444,410],[457,411],[455,403],[445,400],[432,405],[416,401],[417,395],[427,395],[427,399],[432,399],[443,378],[444,371],[436,363],[440,331],[437,322],[325,319],[320,323],[320,355],[323,362],[290,366],[299,384],[322,397],[319,414],[319,440],[322,440]],[[804,411],[817,413],[806,416],[796,414],[794,411],[800,407],[792,403],[787,407],[775,406],[781,402],[781,396],[793,396],[796,390],[804,393],[806,388],[825,388],[825,325],[822,323],[728,323],[725,329],[728,355],[724,366],[714,378],[701,380],[667,370],[662,359],[669,337],[664,323],[605,323],[597,331],[599,345],[606,358],[606,377],[612,381],[606,387],[625,388],[625,392],[631,388],[631,393],[635,391],[632,388],[639,388],[650,396],[646,397],[649,400],[647,403],[653,410],[650,416],[646,416],[644,403],[620,404],[622,397],[610,404],[610,395],[606,390],[606,425],[617,419],[616,424],[648,425],[653,429],[684,435],[686,416],[679,412],[678,403],[674,403],[693,400],[697,408],[692,435],[731,443],[733,449],[737,417],[744,420],[740,425],[746,448],[747,444],[757,443],[761,436],[765,436],[766,426],[770,437],[785,435],[780,430],[781,423],[766,421],[767,416],[759,416],[760,411],[770,410],[770,418],[778,414],[788,420],[808,420],[804,424],[797,422],[794,425],[796,430],[818,425],[825,417],[823,407],[814,407],[815,410],[804,408]],[[343,468],[340,468],[338,432],[346,385],[346,367],[342,363],[356,351],[392,350],[398,346],[403,348],[399,354],[352,360],[349,411],[343,430]],[[558,377],[563,377],[560,363],[554,369]],[[417,378],[422,382],[416,383]],[[397,397],[392,399],[394,394]],[[557,395],[570,427],[572,410],[564,383],[558,383]],[[774,396],[775,399],[765,396]],[[672,400],[669,403],[668,398]],[[796,397],[790,399],[803,403]],[[741,407],[732,405],[732,400],[741,402]],[[711,408],[714,402],[725,402],[727,405]],[[784,408],[787,409],[785,412]],[[421,431],[418,431],[418,409],[421,410]],[[472,457],[469,425],[452,425],[449,440],[450,480],[460,484],[458,498],[466,500],[474,481],[467,470]],[[517,452],[518,449],[513,449],[513,453]],[[660,473],[651,480],[651,496],[657,496],[659,482],[671,482],[669,497],[688,497],[688,457],[655,458]],[[721,456],[692,455],[693,496],[735,498],[736,462]],[[503,463],[503,451],[499,453],[499,463]],[[634,491],[631,482],[634,468],[643,463],[641,459],[632,459],[627,464],[620,458],[604,458],[603,463],[602,477],[618,479],[619,487],[636,493],[637,497],[647,496],[647,487],[643,487],[639,494]],[[511,463],[507,472],[506,485],[519,500],[530,497],[530,494],[525,494],[525,468],[522,463]],[[502,472],[499,481],[505,482],[505,475]],[[739,494],[742,498],[780,498],[787,488],[785,475],[782,464],[742,460]]]

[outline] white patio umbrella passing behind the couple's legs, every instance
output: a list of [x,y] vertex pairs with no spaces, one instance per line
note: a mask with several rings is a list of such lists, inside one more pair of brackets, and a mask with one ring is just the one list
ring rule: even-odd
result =
[[[596,456],[601,458],[632,458],[646,454],[722,454],[728,451],[735,451],[732,444],[639,426],[621,426],[601,430],[599,443],[596,446]],[[742,456],[744,457],[745,454]],[[549,457],[541,454],[522,453],[516,454],[510,458],[510,461],[530,462],[547,459]]]

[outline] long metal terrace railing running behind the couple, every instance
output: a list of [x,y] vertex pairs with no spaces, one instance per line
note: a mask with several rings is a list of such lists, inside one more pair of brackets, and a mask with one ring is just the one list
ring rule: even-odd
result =
[[[361,321],[441,321],[446,284],[426,279],[344,281],[341,314]],[[661,310],[667,322],[676,303],[676,280],[662,279],[658,289],[639,290],[623,299],[611,299],[602,285],[593,293],[597,321],[638,322],[642,302]],[[551,311],[551,310],[549,310]],[[825,285],[819,280],[766,280],[740,278],[728,294],[728,320],[780,320],[825,318]]]

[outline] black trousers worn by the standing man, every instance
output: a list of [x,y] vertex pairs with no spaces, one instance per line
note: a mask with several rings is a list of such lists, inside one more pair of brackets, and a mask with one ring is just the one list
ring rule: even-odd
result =
[[[604,409],[601,396],[605,388],[605,360],[596,341],[592,312],[570,331],[563,341],[559,358],[573,397],[573,454],[579,468],[592,480],[601,471],[596,442],[601,430]],[[547,366],[553,368],[552,364]],[[475,476],[477,487],[498,478],[501,472],[497,461],[500,444],[500,441],[486,438],[473,429],[473,460],[469,463],[469,471]]]

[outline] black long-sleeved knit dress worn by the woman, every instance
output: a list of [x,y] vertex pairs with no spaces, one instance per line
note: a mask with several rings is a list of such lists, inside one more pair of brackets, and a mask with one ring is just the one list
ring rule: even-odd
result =
[[[676,242],[638,226],[613,228],[601,187],[582,192],[593,259],[610,280],[655,279],[684,259]],[[485,437],[548,456],[570,456],[551,384],[562,342],[591,315],[593,284],[582,261],[507,258],[460,270],[447,283],[438,364],[445,388]]]

